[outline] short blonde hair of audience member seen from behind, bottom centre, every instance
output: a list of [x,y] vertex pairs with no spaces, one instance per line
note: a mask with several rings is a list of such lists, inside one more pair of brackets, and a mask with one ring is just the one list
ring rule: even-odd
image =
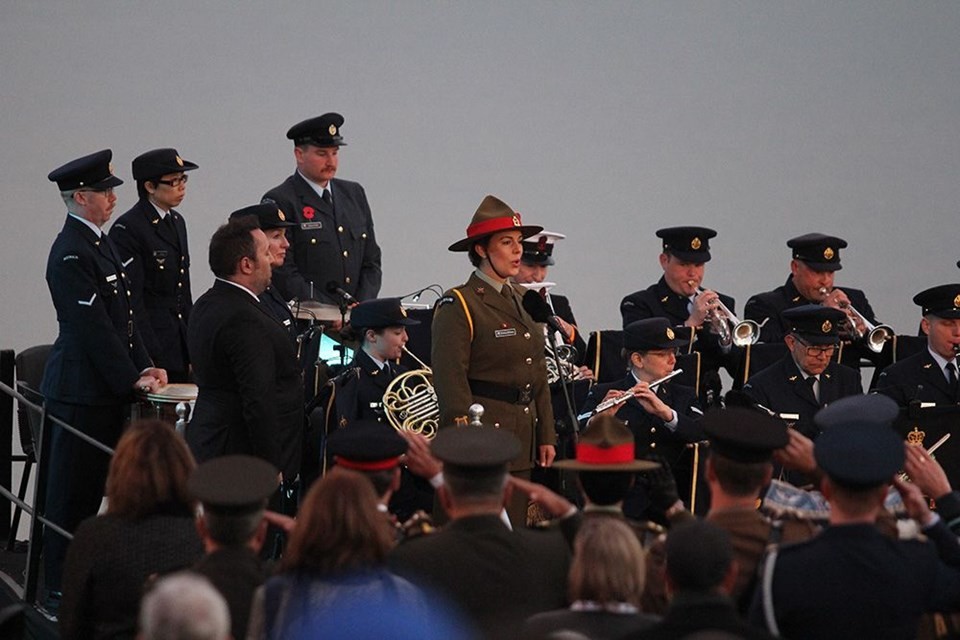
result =
[[616,518],[587,518],[573,543],[570,601],[626,602],[640,607],[646,576],[643,547]]

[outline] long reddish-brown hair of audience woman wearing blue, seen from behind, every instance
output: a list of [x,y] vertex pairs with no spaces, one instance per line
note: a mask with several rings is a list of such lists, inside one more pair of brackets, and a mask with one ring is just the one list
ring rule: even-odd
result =
[[280,566],[321,575],[362,571],[383,564],[392,546],[370,481],[334,468],[307,492]]

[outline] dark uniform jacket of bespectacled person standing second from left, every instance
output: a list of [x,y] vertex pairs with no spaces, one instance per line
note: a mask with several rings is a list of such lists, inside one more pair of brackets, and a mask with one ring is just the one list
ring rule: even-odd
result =
[[[134,315],[158,367],[186,372],[187,322],[193,307],[187,225],[176,211],[161,220],[141,199],[110,228],[130,280]],[[172,225],[171,225],[172,221]]]

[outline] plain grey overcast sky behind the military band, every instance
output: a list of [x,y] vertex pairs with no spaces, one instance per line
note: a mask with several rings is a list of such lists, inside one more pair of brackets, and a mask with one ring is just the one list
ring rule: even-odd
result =
[[340,177],[369,197],[381,295],[470,270],[446,247],[492,193],[567,234],[550,279],[581,329],[618,328],[660,276],[654,230],[714,227],[705,285],[783,283],[785,241],[845,237],[837,283],[912,332],[960,281],[960,3],[0,3],[4,348],[52,341],[47,173],[104,147],[197,162],[180,211],[193,293],[226,216],[293,170],[293,123],[346,117]]

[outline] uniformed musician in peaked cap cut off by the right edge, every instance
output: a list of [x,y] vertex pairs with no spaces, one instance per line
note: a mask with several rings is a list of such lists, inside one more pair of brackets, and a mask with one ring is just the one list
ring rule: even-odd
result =
[[960,403],[960,284],[921,291],[913,302],[923,310],[920,329],[927,336],[927,348],[884,369],[876,391],[890,396],[901,407],[915,401],[956,405]]

